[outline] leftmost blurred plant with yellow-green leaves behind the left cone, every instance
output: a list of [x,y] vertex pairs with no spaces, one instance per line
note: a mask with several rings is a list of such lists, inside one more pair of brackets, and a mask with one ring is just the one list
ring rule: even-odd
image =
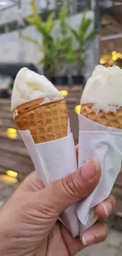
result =
[[50,77],[54,74],[56,55],[54,37],[51,35],[51,32],[54,30],[57,20],[54,20],[54,13],[50,13],[46,22],[43,22],[36,9],[35,0],[31,0],[31,10],[33,16],[26,18],[26,21],[35,26],[39,34],[42,35],[42,40],[35,40],[28,36],[22,36],[22,38],[39,46],[39,51],[43,52],[43,58],[39,59],[39,64],[44,65],[44,74]]

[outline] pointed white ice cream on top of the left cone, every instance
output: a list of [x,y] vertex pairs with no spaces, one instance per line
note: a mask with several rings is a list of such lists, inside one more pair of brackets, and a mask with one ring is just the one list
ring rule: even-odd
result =
[[17,73],[12,93],[12,109],[37,98],[64,98],[45,76],[40,76],[27,68]]

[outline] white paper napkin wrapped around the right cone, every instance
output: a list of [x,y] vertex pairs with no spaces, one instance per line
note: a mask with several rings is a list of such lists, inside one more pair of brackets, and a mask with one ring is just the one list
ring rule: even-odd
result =
[[91,195],[79,202],[80,234],[97,220],[94,207],[109,196],[120,173],[122,131],[97,124],[79,114],[79,167],[90,158],[97,158],[100,162],[102,177]]

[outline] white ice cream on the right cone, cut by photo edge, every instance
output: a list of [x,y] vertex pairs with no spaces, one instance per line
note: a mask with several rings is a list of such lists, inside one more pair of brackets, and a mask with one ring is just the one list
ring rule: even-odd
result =
[[87,103],[94,104],[98,110],[115,110],[122,106],[122,70],[119,67],[96,66],[87,80],[80,102],[81,105]]

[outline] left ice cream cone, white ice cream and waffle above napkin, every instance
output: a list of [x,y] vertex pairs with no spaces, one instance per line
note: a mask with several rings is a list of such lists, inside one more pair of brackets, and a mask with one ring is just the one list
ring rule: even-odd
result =
[[20,69],[13,85],[12,109],[17,128],[29,130],[35,143],[67,136],[65,98],[45,76]]

